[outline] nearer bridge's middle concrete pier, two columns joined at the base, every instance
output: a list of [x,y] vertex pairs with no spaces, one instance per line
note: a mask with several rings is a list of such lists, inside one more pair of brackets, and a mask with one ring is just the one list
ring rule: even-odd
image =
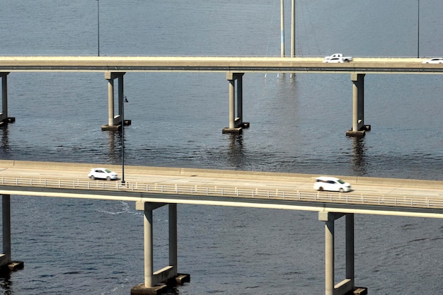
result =
[[[169,207],[169,265],[154,272],[152,212],[165,205]],[[144,283],[132,287],[131,294],[161,294],[168,286],[190,282],[189,274],[178,273],[177,204],[136,202],[135,208],[144,211]]]

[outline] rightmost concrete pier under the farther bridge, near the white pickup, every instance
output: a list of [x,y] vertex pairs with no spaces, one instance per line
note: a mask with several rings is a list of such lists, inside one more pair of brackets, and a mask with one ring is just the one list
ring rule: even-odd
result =
[[347,136],[362,137],[371,129],[364,125],[364,75],[351,74],[352,81],[352,129],[346,132]]

